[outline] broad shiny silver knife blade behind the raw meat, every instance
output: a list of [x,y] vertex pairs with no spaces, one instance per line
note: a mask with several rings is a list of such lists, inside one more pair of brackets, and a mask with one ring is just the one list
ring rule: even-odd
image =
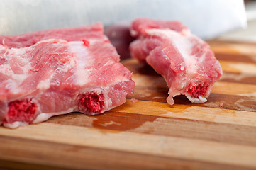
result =
[[204,39],[246,26],[243,0],[0,0],[2,35],[138,17],[179,20]]

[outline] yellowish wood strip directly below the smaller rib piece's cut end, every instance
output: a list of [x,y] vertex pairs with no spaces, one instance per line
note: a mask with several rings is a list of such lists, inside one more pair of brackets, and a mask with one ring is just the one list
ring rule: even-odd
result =
[[159,115],[167,118],[184,118],[215,123],[256,126],[255,112],[235,111],[222,108],[206,108],[180,104],[170,106],[168,103],[155,101],[138,101],[133,103],[128,100],[122,106],[114,108],[113,111],[143,115]]

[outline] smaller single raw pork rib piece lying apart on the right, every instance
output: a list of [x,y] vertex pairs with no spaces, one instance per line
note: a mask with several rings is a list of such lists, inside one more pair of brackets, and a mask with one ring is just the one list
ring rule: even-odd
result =
[[206,42],[178,21],[138,18],[130,33],[137,37],[130,44],[131,55],[165,77],[169,104],[174,104],[173,97],[180,94],[193,103],[207,101],[222,69]]

